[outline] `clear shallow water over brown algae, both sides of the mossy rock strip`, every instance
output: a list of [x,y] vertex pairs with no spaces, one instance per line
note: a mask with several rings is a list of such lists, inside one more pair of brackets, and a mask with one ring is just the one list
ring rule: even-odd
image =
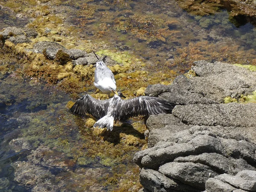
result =
[[[86,2],[64,1],[56,13],[67,15],[64,23],[81,39],[131,52],[147,62],[148,71],[167,66],[183,72],[199,59],[251,64],[256,58],[255,27],[236,27],[225,9],[199,17],[176,1]],[[0,29],[28,22],[3,10],[0,17]],[[69,95],[52,85],[14,71],[0,75],[0,87],[0,192],[140,187],[132,157],[146,143],[138,129],[143,120],[118,122],[112,132],[95,134],[86,126],[88,117],[68,111]]]

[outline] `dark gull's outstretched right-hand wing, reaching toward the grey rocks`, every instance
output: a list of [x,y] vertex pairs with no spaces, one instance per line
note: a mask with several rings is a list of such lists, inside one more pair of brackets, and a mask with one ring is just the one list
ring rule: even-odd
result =
[[125,120],[133,116],[157,115],[171,113],[175,104],[150,96],[140,96],[134,99],[119,100],[114,119]]

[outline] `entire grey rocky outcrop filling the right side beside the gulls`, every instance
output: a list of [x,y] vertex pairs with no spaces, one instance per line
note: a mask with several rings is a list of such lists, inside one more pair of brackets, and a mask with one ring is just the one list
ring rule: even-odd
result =
[[192,70],[145,90],[178,105],[147,120],[149,148],[134,156],[141,191],[255,191],[256,103],[244,95],[256,90],[256,72],[206,61]]

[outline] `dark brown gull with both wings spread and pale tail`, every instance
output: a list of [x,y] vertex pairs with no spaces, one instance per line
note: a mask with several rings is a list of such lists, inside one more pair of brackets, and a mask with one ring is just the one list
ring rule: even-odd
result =
[[174,107],[175,104],[150,96],[124,100],[118,95],[114,95],[111,99],[97,100],[87,94],[78,99],[70,111],[79,115],[89,113],[99,119],[93,127],[106,127],[107,130],[110,129],[112,131],[114,120],[171,113]]

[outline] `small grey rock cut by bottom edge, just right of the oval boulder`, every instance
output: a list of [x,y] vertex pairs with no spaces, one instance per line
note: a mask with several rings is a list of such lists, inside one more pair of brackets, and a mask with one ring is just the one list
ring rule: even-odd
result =
[[209,178],[205,183],[205,189],[207,192],[233,192],[236,188],[221,180]]

